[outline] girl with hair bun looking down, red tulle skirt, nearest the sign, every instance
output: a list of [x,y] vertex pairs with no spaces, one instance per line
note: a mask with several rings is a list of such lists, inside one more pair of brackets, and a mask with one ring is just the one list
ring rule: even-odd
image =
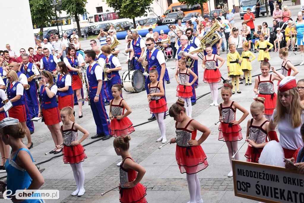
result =
[[[210,130],[186,115],[185,102],[178,99],[169,109],[170,117],[173,117],[176,128],[177,139],[172,138],[171,143],[176,145],[176,161],[181,173],[187,173],[190,202],[202,203],[200,183],[197,173],[208,166],[207,156],[201,144],[207,139]],[[203,132],[196,140],[197,130]]]

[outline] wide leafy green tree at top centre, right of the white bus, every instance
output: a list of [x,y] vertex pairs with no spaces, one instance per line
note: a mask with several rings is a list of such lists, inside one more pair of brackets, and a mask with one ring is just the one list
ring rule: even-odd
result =
[[134,27],[136,25],[135,18],[140,16],[147,16],[146,10],[150,8],[153,0],[107,0],[106,4],[119,11],[120,18],[133,19]]

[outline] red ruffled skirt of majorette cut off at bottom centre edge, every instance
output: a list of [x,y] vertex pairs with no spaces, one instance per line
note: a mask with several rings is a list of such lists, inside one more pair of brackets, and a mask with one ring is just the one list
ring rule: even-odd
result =
[[146,203],[147,188],[138,183],[132,188],[119,187],[119,201],[123,203]]

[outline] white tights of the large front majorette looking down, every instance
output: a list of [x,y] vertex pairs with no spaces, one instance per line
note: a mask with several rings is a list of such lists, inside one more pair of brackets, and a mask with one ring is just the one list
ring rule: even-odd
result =
[[195,203],[202,199],[201,197],[201,184],[199,183],[199,178],[197,173],[186,175],[188,182],[188,190],[190,194],[190,203]]

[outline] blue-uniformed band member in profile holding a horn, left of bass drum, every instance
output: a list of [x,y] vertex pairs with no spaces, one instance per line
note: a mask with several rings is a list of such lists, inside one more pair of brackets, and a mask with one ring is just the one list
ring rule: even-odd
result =
[[121,70],[121,65],[118,58],[111,54],[111,48],[109,45],[103,45],[101,47],[101,51],[106,56],[105,62],[110,64],[106,65],[106,69],[107,77],[111,79],[104,81],[105,101],[109,103],[110,100],[114,99],[114,96],[112,95],[112,86],[115,84],[121,84],[121,77],[118,72]]

